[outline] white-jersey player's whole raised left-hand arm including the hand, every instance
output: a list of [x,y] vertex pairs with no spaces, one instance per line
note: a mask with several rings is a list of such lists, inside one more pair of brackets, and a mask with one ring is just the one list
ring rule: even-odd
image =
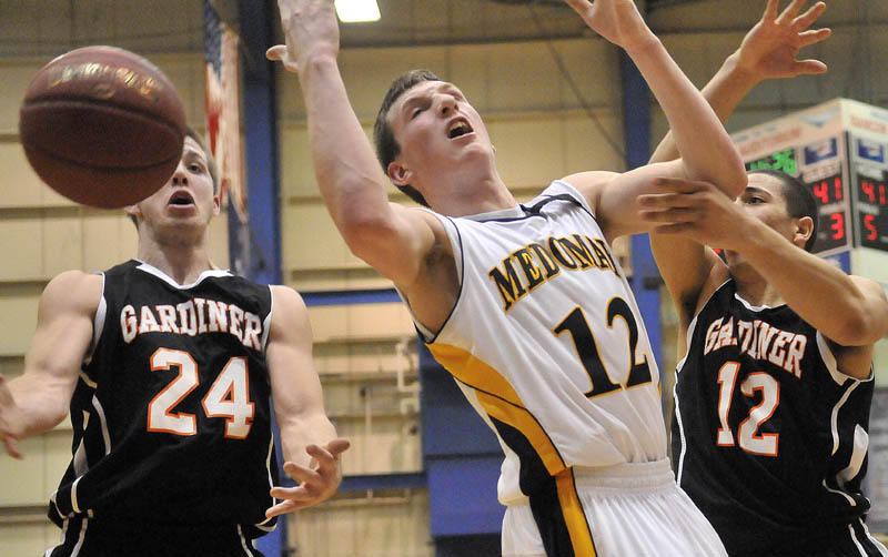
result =
[[[443,227],[422,211],[390,203],[385,176],[342,82],[333,0],[279,0],[286,45],[269,58],[299,74],[315,175],[351,251],[410,291]],[[437,234],[437,236],[436,236]]]

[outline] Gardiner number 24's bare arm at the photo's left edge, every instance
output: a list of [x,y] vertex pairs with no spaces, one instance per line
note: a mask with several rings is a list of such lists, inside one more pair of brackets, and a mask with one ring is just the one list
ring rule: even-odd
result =
[[80,271],[60,274],[43,291],[24,373],[8,383],[0,377],[0,439],[11,456],[22,457],[18,439],[68,415],[101,295],[102,277]]

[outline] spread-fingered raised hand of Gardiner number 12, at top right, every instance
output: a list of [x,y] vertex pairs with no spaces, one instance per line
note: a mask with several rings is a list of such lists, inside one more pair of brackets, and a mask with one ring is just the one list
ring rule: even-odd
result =
[[778,14],[779,0],[768,0],[761,20],[746,33],[737,50],[740,69],[761,80],[826,72],[826,64],[819,60],[796,59],[799,50],[831,34],[826,28],[809,29],[826,10],[824,2],[815,3],[798,16],[806,1],[793,0]]

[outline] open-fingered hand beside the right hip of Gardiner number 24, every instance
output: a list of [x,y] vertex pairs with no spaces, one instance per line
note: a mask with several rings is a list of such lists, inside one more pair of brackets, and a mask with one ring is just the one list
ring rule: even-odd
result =
[[333,439],[326,447],[309,445],[305,452],[312,457],[309,467],[295,463],[284,463],[284,472],[299,483],[296,487],[273,487],[271,496],[284,499],[265,510],[272,517],[317,505],[336,493],[342,482],[340,455],[351,446],[347,439]]

